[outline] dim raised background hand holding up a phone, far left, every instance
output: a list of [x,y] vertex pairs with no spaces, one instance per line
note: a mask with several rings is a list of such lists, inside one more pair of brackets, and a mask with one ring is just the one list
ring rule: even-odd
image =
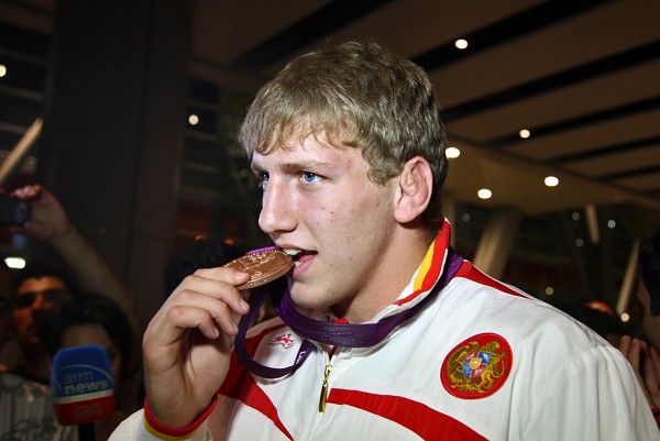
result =
[[13,227],[12,233],[26,234],[48,241],[68,233],[73,227],[59,201],[40,185],[28,185],[11,192],[12,197],[31,201],[30,220],[23,227]]

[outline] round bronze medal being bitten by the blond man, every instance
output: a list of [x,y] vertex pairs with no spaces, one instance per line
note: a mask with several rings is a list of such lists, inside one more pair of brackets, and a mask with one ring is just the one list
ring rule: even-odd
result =
[[294,267],[294,260],[279,250],[264,250],[234,258],[224,266],[250,274],[250,280],[237,286],[238,290],[265,285],[284,276]]

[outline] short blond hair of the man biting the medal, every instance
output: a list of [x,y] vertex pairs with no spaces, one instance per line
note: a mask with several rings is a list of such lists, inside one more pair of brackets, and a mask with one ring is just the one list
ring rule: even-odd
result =
[[[324,136],[354,147],[376,184],[425,157],[433,170],[425,223],[442,223],[440,189],[447,175],[446,133],[427,74],[375,42],[349,42],[302,55],[256,95],[239,139],[246,154],[290,148],[292,140]],[[288,146],[287,146],[288,145]]]

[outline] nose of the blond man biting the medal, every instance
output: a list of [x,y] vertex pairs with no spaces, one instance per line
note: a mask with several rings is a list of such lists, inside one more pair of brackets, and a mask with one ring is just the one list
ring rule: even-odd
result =
[[296,228],[295,200],[286,184],[271,178],[262,197],[258,227],[270,235],[293,231]]

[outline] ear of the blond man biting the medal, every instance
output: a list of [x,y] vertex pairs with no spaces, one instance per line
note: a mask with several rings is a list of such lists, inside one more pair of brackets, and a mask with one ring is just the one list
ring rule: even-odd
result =
[[399,195],[395,218],[408,223],[421,216],[429,206],[433,190],[433,172],[429,162],[421,156],[409,159],[399,175]]

